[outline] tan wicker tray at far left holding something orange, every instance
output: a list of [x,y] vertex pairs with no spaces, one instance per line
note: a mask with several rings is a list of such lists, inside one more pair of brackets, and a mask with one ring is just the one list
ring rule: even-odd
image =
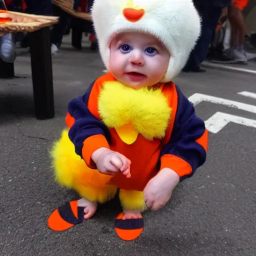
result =
[[12,16],[15,17],[26,17],[26,21],[21,22],[6,22],[0,23],[0,32],[3,33],[15,33],[15,32],[33,32],[39,30],[45,26],[51,26],[58,22],[58,17],[53,16],[42,16],[42,15],[33,15],[33,14],[26,14],[21,12],[15,11],[7,11]]

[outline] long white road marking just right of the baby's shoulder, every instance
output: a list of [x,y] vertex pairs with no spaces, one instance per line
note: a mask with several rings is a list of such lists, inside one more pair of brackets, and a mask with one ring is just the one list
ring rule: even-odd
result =
[[238,109],[248,111],[251,113],[256,113],[256,106],[254,106],[254,105],[245,104],[245,103],[241,103],[238,101],[233,101],[233,100],[229,100],[229,99],[225,99],[225,98],[214,97],[214,96],[201,94],[201,93],[194,93],[193,95],[191,95],[188,98],[188,100],[193,105],[197,105],[200,102],[207,101],[207,102],[211,102],[211,103],[215,103],[215,104],[221,104],[221,105],[225,105],[225,106],[238,108]]

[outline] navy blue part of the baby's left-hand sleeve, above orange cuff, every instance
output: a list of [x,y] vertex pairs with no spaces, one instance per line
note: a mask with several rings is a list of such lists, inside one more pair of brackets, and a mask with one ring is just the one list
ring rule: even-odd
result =
[[[83,142],[93,135],[103,135],[110,143],[110,135],[105,124],[97,119],[88,109],[87,102],[94,83],[91,83],[86,92],[77,98],[72,99],[67,106],[68,113],[74,122],[69,128],[68,136],[75,146],[76,154],[82,157]],[[95,98],[95,101],[97,98]],[[96,104],[96,103],[95,103]]]

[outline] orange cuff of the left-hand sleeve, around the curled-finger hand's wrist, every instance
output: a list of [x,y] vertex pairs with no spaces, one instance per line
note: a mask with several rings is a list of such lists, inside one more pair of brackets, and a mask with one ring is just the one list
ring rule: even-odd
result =
[[91,169],[96,169],[96,164],[91,160],[91,154],[100,147],[109,148],[106,138],[101,135],[92,135],[83,141],[82,158]]

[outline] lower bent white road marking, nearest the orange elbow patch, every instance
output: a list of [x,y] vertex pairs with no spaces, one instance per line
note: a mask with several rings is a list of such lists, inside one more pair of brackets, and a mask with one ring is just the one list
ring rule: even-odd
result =
[[217,133],[229,122],[256,128],[256,120],[222,112],[216,112],[209,119],[207,119],[205,121],[205,127],[208,131]]

